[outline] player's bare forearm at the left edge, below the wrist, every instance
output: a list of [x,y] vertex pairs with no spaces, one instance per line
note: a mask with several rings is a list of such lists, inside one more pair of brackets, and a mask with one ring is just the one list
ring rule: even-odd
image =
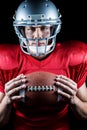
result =
[[7,102],[7,97],[4,97],[0,103],[0,127],[7,124],[11,114],[12,104]]

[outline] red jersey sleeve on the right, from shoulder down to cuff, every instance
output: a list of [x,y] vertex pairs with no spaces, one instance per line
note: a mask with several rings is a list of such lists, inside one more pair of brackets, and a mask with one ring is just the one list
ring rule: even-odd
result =
[[86,82],[87,76],[87,44],[77,42],[70,56],[70,78],[73,79],[78,88]]

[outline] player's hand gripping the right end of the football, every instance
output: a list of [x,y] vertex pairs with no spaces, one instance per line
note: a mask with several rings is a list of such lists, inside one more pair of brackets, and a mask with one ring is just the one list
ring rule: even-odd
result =
[[58,94],[73,102],[77,93],[77,84],[63,75],[57,75],[56,85],[58,86]]

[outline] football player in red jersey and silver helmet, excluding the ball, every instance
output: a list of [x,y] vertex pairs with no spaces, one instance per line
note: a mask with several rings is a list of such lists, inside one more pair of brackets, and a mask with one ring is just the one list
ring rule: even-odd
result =
[[[56,43],[62,21],[59,9],[50,0],[25,0],[13,18],[20,44],[0,45],[0,126],[70,130],[69,107],[77,118],[87,118],[87,45],[74,40]],[[36,71],[56,74],[56,86],[60,88],[56,103],[27,105],[23,100],[26,74]]]

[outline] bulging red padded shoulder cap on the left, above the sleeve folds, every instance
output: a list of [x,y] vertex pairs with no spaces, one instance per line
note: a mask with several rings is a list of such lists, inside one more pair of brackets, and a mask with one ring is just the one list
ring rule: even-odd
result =
[[19,45],[0,44],[0,69],[12,69],[18,64]]

